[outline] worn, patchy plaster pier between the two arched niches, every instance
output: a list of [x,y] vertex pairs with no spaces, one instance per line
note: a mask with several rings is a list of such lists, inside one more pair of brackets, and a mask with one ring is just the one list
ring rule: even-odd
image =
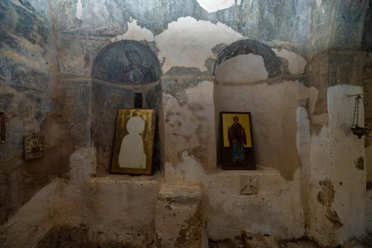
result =
[[[166,157],[172,158],[170,166],[181,171],[186,180],[196,177],[192,168],[202,166],[205,171],[216,167],[214,123],[214,83],[202,81],[193,87],[181,89],[163,85],[163,111]],[[170,85],[172,87],[172,85]],[[183,91],[183,92],[182,92]],[[165,93],[169,92],[169,93]],[[179,98],[177,98],[179,96]],[[181,98],[181,96],[183,96]],[[182,169],[183,152],[193,156],[193,163],[186,163]],[[170,161],[166,161],[168,164]],[[167,165],[166,165],[167,166]],[[182,172],[183,171],[183,172]]]

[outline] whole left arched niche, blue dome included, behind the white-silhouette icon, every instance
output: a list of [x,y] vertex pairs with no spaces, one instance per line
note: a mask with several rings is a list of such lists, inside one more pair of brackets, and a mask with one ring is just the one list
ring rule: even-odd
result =
[[[161,112],[161,67],[155,53],[138,41],[118,41],[102,48],[92,65],[92,142],[97,149],[97,175],[110,171],[119,108]],[[140,96],[140,102],[137,100]],[[142,102],[142,104],[141,104]],[[153,171],[162,165],[159,129],[155,134]]]

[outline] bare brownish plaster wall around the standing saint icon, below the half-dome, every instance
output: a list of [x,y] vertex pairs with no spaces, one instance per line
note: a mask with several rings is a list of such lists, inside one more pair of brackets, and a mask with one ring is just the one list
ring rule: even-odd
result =
[[277,169],[291,180],[301,165],[296,148],[296,110],[305,105],[308,98],[309,89],[298,80],[239,86],[222,84],[215,87],[215,121],[219,127],[220,111],[251,112],[256,162]]

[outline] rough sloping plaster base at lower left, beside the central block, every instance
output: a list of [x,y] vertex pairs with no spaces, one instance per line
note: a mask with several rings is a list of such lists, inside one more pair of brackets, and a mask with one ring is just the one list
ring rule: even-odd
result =
[[95,150],[74,152],[68,179],[54,179],[1,226],[2,247],[150,247],[161,179],[95,174]]

